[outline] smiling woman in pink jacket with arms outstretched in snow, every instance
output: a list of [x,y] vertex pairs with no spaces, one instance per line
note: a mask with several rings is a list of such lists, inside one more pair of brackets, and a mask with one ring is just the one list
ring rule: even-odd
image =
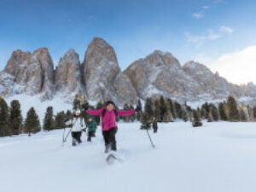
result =
[[[111,101],[106,102],[105,108],[101,108],[98,110],[91,110],[88,109],[89,104],[86,103],[84,105],[84,109],[86,112],[93,116],[101,116],[102,117],[102,135],[105,142],[105,153],[108,153],[109,149],[116,151],[116,141],[115,141],[115,134],[117,132],[117,125],[116,125],[116,116],[126,116],[135,113],[135,111],[139,111],[140,108],[136,108],[128,110],[128,111],[121,111],[115,109],[114,103]],[[88,109],[88,110],[87,110]]]

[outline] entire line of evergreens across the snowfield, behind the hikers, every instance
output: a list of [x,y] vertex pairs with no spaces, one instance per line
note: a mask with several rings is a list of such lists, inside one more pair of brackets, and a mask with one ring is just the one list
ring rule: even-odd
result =
[[[85,96],[76,95],[73,100],[73,109],[81,109],[81,103],[86,100]],[[142,102],[138,100],[138,106],[142,108]],[[102,102],[98,102],[96,106],[90,106],[91,109],[99,109],[104,107]],[[125,104],[123,110],[133,109],[132,105]],[[158,99],[147,98],[141,113],[135,113],[131,116],[118,117],[124,122],[133,122],[135,120],[142,122],[142,127],[148,129],[153,118],[158,122],[173,122],[175,119],[183,119],[183,121],[192,122],[193,126],[201,126],[201,119],[207,119],[208,122],[218,120],[224,121],[256,121],[256,107],[249,105],[238,105],[236,99],[229,96],[227,101],[219,102],[218,105],[205,102],[201,108],[192,109],[186,104],[181,105],[170,98],[160,96]],[[82,111],[81,115],[84,121],[87,121],[88,114]],[[41,127],[38,114],[34,108],[30,108],[26,113],[26,119],[23,119],[20,109],[20,102],[13,100],[10,106],[0,96],[0,137],[19,135],[27,133],[37,133],[42,129],[51,131],[61,129],[68,126],[67,121],[73,119],[73,113],[67,110],[56,113],[52,107],[48,107],[44,114],[43,126]],[[96,121],[100,121],[100,117],[95,117]]]

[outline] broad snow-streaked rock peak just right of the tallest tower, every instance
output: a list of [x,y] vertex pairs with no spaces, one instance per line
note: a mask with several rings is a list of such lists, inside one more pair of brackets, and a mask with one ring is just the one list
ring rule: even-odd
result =
[[179,61],[172,54],[160,50],[133,62],[125,74],[143,99],[174,96],[182,100],[187,95],[195,96],[199,89],[195,79],[186,75]]

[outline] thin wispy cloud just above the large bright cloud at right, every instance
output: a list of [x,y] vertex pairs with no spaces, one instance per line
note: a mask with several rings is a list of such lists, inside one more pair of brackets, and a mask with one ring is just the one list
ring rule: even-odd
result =
[[211,29],[207,31],[206,35],[196,36],[192,35],[190,32],[185,32],[185,38],[189,44],[194,44],[195,48],[200,48],[207,41],[215,41],[218,38],[221,38],[221,35],[215,33]]

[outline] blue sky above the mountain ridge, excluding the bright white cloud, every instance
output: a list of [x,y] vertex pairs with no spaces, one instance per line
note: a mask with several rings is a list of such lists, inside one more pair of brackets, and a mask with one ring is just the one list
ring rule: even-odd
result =
[[83,61],[93,37],[113,46],[122,69],[154,49],[211,67],[256,44],[255,13],[253,0],[0,0],[0,69],[15,49],[47,47],[56,65],[73,48]]

